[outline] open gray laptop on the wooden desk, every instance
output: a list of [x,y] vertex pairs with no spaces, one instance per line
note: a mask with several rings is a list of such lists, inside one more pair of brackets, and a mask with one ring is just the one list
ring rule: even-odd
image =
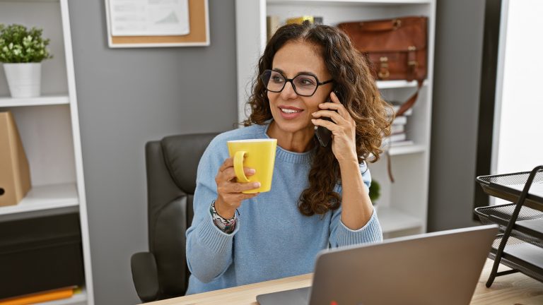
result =
[[260,305],[469,304],[497,225],[324,250],[312,287],[257,296]]

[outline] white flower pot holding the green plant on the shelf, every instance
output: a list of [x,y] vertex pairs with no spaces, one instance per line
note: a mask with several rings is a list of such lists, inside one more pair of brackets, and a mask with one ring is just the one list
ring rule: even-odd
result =
[[4,64],[11,97],[38,97],[42,63]]

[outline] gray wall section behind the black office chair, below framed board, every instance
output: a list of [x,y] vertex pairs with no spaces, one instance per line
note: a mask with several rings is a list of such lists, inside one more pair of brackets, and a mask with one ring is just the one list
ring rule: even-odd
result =
[[234,1],[209,1],[210,47],[110,49],[105,1],[69,2],[96,304],[134,304],[147,248],[144,145],[237,119]]

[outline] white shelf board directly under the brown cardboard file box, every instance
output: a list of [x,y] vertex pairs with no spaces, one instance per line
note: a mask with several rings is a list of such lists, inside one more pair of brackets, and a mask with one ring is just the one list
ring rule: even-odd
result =
[[66,208],[78,204],[75,183],[33,186],[20,203],[0,207],[0,215]]

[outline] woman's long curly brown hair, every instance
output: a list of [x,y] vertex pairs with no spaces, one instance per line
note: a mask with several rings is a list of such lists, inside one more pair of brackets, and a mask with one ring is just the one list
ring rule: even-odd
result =
[[[370,155],[374,156],[370,162],[377,161],[383,152],[380,148],[382,137],[390,135],[390,106],[381,98],[365,56],[354,48],[344,32],[332,26],[304,22],[284,25],[275,32],[259,59],[257,77],[248,102],[251,114],[243,125],[262,125],[272,118],[267,90],[259,76],[272,68],[276,52],[293,41],[317,46],[316,52],[320,52],[334,79],[334,90],[341,92],[341,103],[356,121],[358,163],[368,160]],[[341,204],[341,196],[334,192],[341,177],[332,145],[322,147],[316,140],[315,145],[317,152],[309,172],[309,187],[300,194],[298,203],[300,213],[306,216],[323,215]]]

